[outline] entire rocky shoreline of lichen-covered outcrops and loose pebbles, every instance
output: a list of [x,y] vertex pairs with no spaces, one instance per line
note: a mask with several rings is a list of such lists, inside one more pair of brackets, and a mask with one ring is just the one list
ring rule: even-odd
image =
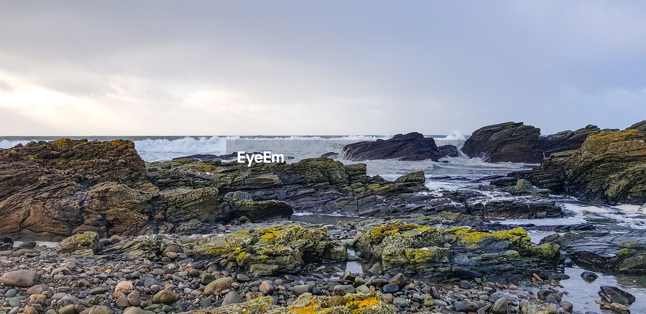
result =
[[[127,140],[18,145],[0,151],[0,314],[578,313],[559,284],[565,267],[646,273],[643,229],[497,221],[571,216],[553,194],[643,204],[641,126],[542,140],[522,123],[486,127],[464,153],[505,161],[521,145],[514,161],[541,151],[541,165],[434,191],[422,171],[389,181],[326,157],[247,167],[209,156],[143,162]],[[505,140],[514,134],[536,139]],[[412,133],[343,154],[459,151]],[[307,224],[289,220],[295,212],[347,219]],[[532,231],[552,235],[532,244]],[[599,299],[617,313],[635,302],[607,286]]]

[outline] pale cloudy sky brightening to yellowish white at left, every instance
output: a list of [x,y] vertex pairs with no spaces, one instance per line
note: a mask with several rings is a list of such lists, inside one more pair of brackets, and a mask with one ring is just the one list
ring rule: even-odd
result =
[[0,136],[646,120],[643,1],[1,1]]

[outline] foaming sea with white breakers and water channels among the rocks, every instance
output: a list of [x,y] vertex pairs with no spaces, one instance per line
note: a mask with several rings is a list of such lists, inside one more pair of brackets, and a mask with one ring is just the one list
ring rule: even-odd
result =
[[[455,145],[461,147],[468,136],[459,131],[451,134],[427,136],[433,138],[437,146]],[[356,163],[344,160],[342,149],[348,143],[357,141],[387,140],[391,135],[348,135],[348,136],[0,136],[0,149],[8,149],[17,144],[30,141],[51,141],[57,138],[73,138],[87,140],[107,141],[117,138],[132,140],[141,158],[146,162],[159,162],[171,160],[193,154],[229,154],[236,147],[246,147],[249,152],[271,151],[275,154],[284,154],[289,157],[287,163],[298,162],[304,158],[315,158],[328,152],[339,153],[336,160],[344,164]],[[242,145],[242,146],[241,146]],[[386,180],[394,180],[403,174],[415,171],[424,171],[426,187],[429,189],[473,189],[474,180],[487,176],[505,175],[512,171],[528,170],[536,167],[532,163],[489,163],[480,158],[467,158],[466,156],[442,158],[439,162],[422,160],[409,162],[401,160],[368,160],[366,163],[368,174],[379,174]],[[476,183],[477,185],[477,183]],[[490,193],[492,199],[501,196],[501,193]],[[570,213],[568,218],[547,218],[532,220],[502,220],[501,224],[535,224],[535,225],[576,225],[590,222],[599,224],[598,229],[613,233],[626,233],[633,229],[646,228],[645,206],[639,205],[596,205],[581,202],[571,196],[552,196],[557,205]],[[309,222],[328,222],[329,218],[341,220],[342,217],[295,216],[295,220]],[[532,231],[529,233],[532,242],[538,243],[541,238],[550,235],[548,231]],[[561,280],[568,291],[564,300],[574,304],[574,309],[585,313],[601,311],[594,300],[599,299],[597,292],[599,286],[616,286],[635,295],[637,301],[630,306],[632,313],[646,313],[646,276],[626,275],[589,269],[599,275],[594,282],[587,282],[579,275],[585,269],[581,267],[568,267],[566,274],[570,279]]]

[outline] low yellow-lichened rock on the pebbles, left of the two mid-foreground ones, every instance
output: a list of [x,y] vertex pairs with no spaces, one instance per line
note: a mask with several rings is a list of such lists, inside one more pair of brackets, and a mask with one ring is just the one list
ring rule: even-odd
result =
[[275,271],[297,272],[312,262],[345,260],[346,247],[331,240],[325,227],[307,229],[299,225],[275,225],[220,236],[213,242],[194,247],[188,254],[271,275]]

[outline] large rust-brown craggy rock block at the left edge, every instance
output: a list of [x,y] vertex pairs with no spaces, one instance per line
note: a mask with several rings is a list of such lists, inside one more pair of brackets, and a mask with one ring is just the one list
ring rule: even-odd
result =
[[[79,225],[107,228],[107,204],[93,194],[96,185],[118,182],[147,193],[145,174],[127,140],[64,138],[0,151],[0,233],[47,240],[70,236]],[[121,196],[119,204],[131,204],[129,196]]]

